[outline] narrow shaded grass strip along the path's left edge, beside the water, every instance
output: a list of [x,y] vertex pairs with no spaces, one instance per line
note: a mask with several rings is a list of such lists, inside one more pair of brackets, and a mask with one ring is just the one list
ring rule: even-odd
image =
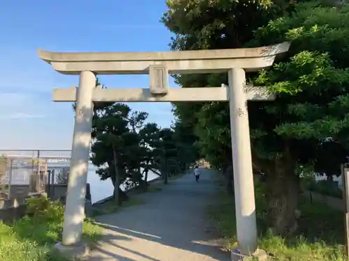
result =
[[115,204],[114,199],[110,199],[105,201],[105,203],[102,203],[94,207],[92,216],[100,216],[100,215],[115,213],[123,207],[132,207],[135,205],[141,205],[141,204],[144,204],[144,202],[145,201],[142,198],[133,197],[133,198],[129,198],[127,201],[122,203],[121,206],[118,206]]

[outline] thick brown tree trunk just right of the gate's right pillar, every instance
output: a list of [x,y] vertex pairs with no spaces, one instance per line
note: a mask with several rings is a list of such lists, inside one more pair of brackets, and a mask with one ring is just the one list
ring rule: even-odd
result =
[[[287,154],[287,152],[286,152]],[[277,235],[292,234],[297,230],[299,176],[288,155],[274,161],[274,168],[267,173],[268,223]]]

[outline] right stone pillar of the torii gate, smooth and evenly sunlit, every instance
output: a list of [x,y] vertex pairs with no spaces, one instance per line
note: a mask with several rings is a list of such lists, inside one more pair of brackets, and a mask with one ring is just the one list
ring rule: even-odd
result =
[[239,251],[250,255],[257,248],[257,226],[244,69],[230,69],[228,79],[237,240]]

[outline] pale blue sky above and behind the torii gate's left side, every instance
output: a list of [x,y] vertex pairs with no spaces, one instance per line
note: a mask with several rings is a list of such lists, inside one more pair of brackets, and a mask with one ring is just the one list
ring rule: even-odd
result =
[[[77,85],[55,72],[37,48],[56,52],[166,51],[171,33],[159,22],[165,0],[3,1],[0,8],[0,149],[70,149],[70,103],[52,88]],[[101,76],[110,87],[147,88],[148,75]],[[170,80],[170,86],[174,86]],[[170,103],[133,103],[168,127]]]

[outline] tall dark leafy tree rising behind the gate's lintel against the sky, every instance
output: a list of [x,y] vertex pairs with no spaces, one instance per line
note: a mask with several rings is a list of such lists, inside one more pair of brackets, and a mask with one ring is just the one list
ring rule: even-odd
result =
[[[167,1],[161,21],[175,34],[172,50],[240,48],[253,38],[253,31],[269,19],[285,15],[289,1],[185,0]],[[221,86],[225,74],[174,76],[183,87]],[[205,106],[204,109],[202,109]],[[211,120],[203,114],[211,113]],[[198,136],[200,154],[214,168],[231,166],[229,110],[226,104],[174,104],[174,114],[189,133]],[[221,128],[221,126],[225,126]]]

